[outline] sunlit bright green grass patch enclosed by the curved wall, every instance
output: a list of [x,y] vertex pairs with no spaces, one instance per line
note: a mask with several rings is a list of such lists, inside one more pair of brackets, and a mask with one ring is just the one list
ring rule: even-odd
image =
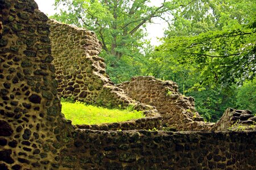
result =
[[110,122],[122,122],[145,117],[141,111],[131,111],[131,109],[106,109],[85,105],[81,102],[69,103],[61,102],[62,113],[65,118],[72,121],[73,125],[94,125]]

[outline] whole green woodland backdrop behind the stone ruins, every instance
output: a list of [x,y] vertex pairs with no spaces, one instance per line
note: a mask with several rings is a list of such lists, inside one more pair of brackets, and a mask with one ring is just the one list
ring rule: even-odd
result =
[[[151,75],[179,84],[205,121],[225,109],[256,113],[256,1],[55,0],[51,18],[96,32],[114,83]],[[152,46],[146,24],[168,24]]]

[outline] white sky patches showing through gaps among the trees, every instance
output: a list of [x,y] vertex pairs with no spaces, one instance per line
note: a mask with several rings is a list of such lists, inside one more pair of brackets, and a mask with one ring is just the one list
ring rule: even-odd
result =
[[[38,3],[39,10],[44,12],[44,14],[51,16],[55,14],[55,10],[53,7],[53,3],[55,0],[35,0]],[[160,6],[162,0],[155,1],[153,0],[152,5]],[[155,24],[148,24],[147,25],[147,32],[148,32],[148,39],[151,40],[151,45],[159,45],[160,42],[158,41],[158,37],[163,37],[164,29],[167,28],[167,24],[163,23],[161,20],[153,20]]]

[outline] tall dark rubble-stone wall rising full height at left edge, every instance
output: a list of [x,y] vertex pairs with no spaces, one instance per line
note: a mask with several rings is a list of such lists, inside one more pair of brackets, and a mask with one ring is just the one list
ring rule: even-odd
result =
[[0,8],[0,169],[49,169],[60,154],[53,131],[64,123],[48,18],[34,1]]

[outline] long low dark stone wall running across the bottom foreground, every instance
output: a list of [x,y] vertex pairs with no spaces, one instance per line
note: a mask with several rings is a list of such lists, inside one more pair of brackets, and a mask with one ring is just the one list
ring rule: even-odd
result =
[[256,131],[78,131],[61,165],[73,169],[255,169]]

